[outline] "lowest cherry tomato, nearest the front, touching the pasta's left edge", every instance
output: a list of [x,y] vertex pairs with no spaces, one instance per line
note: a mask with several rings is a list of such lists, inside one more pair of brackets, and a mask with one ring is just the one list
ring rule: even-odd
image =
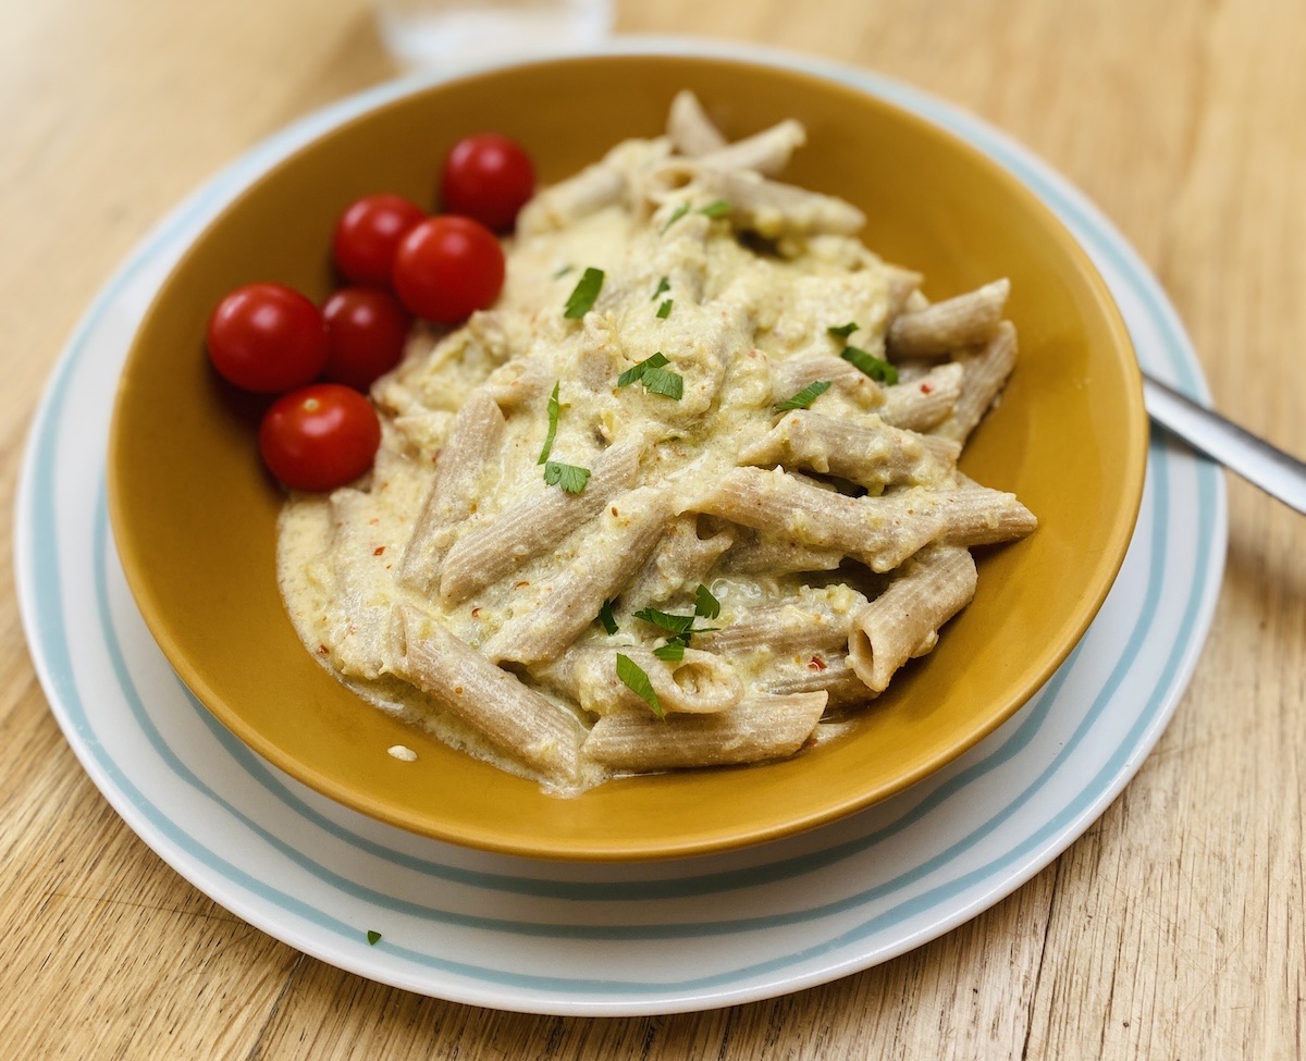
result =
[[264,464],[293,490],[334,490],[372,466],[381,425],[351,387],[315,383],[277,399],[259,425]]

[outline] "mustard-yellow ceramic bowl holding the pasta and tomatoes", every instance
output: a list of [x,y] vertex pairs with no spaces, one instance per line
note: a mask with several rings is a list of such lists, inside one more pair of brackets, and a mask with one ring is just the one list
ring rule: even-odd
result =
[[[279,489],[255,446],[263,401],[219,385],[212,307],[276,280],[324,298],[328,243],[358,196],[434,206],[466,133],[522,141],[543,182],[616,141],[661,131],[693,89],[731,136],[799,119],[786,179],[844,196],[863,238],[946,297],[1012,281],[1021,359],[964,469],[1013,490],[1038,532],[986,551],[980,591],[938,649],[855,729],[768,766],[616,780],[558,800],[367,707],[303,649],[277,592]],[[1015,712],[1088,627],[1141,495],[1145,416],[1126,329],[1087,256],[1006,171],[925,120],[789,69],[721,59],[602,56],[522,65],[398,99],[256,182],[195,242],[155,299],[123,374],[108,463],[114,534],[163,652],[208,708],[278,767],[364,814],[526,856],[627,860],[757,843],[832,821],[938,770]],[[404,743],[417,762],[387,749]]]

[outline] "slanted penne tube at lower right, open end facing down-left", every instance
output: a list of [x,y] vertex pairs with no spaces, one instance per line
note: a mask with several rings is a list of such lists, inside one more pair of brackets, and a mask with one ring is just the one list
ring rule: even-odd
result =
[[976,564],[965,549],[930,549],[853,621],[848,657],[875,693],[913,656],[934,648],[939,627],[976,592]]

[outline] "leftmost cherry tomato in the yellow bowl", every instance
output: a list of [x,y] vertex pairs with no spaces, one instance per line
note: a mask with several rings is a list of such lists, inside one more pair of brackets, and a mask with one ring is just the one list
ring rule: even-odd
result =
[[283,284],[236,287],[209,318],[206,341],[223,378],[265,395],[302,387],[326,361],[321,314]]

